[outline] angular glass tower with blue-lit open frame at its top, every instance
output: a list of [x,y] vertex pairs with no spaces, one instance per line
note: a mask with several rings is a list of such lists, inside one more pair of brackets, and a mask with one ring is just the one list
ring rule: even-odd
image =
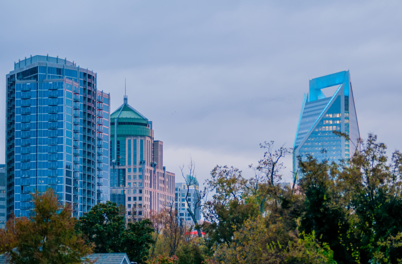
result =
[[[331,90],[330,87],[335,93],[326,96],[325,89]],[[333,131],[347,134],[350,140]],[[297,156],[312,155],[318,161],[328,159],[330,162],[348,159],[359,138],[349,71],[310,80],[310,93],[304,96],[294,140],[293,171],[298,170]]]

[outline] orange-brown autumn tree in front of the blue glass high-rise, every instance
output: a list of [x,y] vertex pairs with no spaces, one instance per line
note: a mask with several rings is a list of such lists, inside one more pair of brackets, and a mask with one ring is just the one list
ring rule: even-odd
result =
[[76,233],[70,205],[61,205],[53,189],[33,194],[33,203],[29,218],[13,216],[0,229],[0,251],[17,264],[89,262],[91,245]]

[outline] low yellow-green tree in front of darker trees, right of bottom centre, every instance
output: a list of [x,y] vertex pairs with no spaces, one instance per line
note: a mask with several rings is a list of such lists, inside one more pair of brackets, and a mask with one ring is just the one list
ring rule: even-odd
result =
[[207,263],[336,263],[333,251],[312,234],[287,231],[282,223],[267,225],[258,215],[236,230],[230,244],[217,247]]

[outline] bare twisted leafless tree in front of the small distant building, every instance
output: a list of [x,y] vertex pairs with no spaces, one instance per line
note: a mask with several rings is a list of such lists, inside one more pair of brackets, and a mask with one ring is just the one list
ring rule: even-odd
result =
[[[187,203],[187,212],[191,216],[191,219],[192,219],[192,221],[194,223],[194,228],[197,230],[198,237],[202,238],[201,228],[198,225],[198,221],[197,221],[197,219],[195,217],[196,210],[198,210],[201,207],[201,199],[200,199],[199,196],[198,197],[194,196],[194,197],[190,198],[190,199],[192,199],[191,202],[194,205],[194,209],[192,211],[191,210],[191,204],[190,204],[191,202],[189,201],[189,198],[188,198],[189,193],[190,193],[190,188],[195,188],[195,185],[198,183],[197,179],[195,178],[195,163],[192,160],[191,156],[190,156],[190,163],[188,165],[188,174],[184,173],[184,171],[183,171],[184,170],[184,165],[180,167],[180,170],[181,170],[181,175],[184,178],[186,189],[187,189],[187,193],[185,195],[185,201]],[[186,174],[186,175],[184,176],[184,174]]]

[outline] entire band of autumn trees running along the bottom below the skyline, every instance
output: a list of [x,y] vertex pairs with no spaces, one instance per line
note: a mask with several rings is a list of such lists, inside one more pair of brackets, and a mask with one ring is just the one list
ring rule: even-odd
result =
[[402,153],[389,158],[369,135],[348,160],[299,157],[300,174],[281,185],[291,151],[274,150],[273,142],[261,147],[251,179],[235,167],[212,170],[202,192],[203,237],[191,235],[194,226],[173,208],[140,221],[108,202],[77,221],[48,191],[34,196],[30,219],[9,220],[0,250],[15,263],[78,263],[91,248],[149,264],[402,263]]

